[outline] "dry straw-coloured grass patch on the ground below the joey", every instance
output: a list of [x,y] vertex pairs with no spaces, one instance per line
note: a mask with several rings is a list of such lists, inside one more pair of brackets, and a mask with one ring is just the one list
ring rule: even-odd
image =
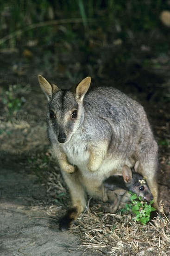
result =
[[110,256],[169,256],[170,223],[165,217],[147,225],[135,223],[131,215],[103,213],[94,204],[78,218],[70,232],[80,236],[80,248],[99,250]]

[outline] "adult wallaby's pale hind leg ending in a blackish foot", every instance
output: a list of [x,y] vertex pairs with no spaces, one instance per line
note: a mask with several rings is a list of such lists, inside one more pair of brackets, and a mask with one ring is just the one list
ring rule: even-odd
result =
[[70,228],[72,222],[83,212],[86,207],[86,193],[81,185],[79,171],[73,174],[62,172],[63,178],[69,187],[71,195],[72,207],[67,210],[59,223],[59,229],[65,231]]

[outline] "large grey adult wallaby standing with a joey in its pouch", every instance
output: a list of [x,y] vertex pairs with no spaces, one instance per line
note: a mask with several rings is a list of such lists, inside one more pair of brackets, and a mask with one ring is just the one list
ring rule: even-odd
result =
[[102,182],[138,159],[157,208],[157,143],[144,108],[112,87],[88,90],[90,77],[69,90],[41,75],[38,80],[49,101],[49,138],[72,200],[60,229],[69,229],[85,209],[87,194],[103,197]]

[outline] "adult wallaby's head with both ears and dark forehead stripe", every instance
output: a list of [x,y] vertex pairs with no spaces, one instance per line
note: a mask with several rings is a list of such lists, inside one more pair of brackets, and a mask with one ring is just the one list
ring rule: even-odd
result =
[[86,77],[70,90],[62,90],[50,84],[41,75],[38,75],[38,81],[49,101],[47,121],[50,136],[53,141],[66,143],[83,121],[83,98],[90,86],[91,77]]

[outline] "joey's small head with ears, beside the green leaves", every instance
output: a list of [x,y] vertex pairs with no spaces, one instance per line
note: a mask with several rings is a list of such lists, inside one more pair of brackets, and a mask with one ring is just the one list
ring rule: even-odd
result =
[[132,193],[141,196],[147,202],[151,202],[153,200],[153,195],[151,194],[151,190],[149,189],[143,176],[136,172],[138,166],[139,161],[135,163],[135,166],[132,168],[132,170],[127,165],[123,166],[122,175],[126,184],[126,188]]

